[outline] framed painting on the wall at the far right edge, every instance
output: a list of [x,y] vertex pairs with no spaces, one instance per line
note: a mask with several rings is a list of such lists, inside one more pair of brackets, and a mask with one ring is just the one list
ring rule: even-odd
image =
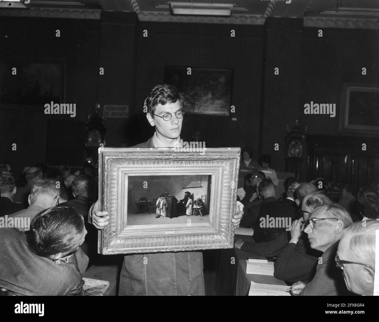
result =
[[340,132],[379,132],[379,86],[344,84]]

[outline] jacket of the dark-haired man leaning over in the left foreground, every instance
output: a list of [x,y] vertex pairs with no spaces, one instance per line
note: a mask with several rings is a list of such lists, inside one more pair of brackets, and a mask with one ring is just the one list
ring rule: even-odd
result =
[[56,264],[34,254],[25,234],[0,229],[0,287],[16,295],[84,295],[75,255]]

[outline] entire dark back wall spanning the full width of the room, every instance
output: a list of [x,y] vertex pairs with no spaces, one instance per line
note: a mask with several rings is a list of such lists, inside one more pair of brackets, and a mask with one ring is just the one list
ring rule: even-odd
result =
[[[61,31],[60,38],[55,37],[56,29]],[[232,29],[235,37],[230,36]],[[130,108],[128,119],[106,120],[107,146],[146,141],[153,128],[142,113],[144,98],[153,86],[164,82],[165,66],[182,66],[233,69],[235,113],[231,117],[186,114],[181,137],[190,141],[196,128],[207,146],[250,146],[255,158],[269,153],[271,167],[283,171],[287,124],[292,127],[299,118],[310,134],[340,135],[343,83],[378,82],[379,31],[323,28],[320,38],[318,30],[303,28],[301,19],[283,18],[269,18],[263,27],[138,22],[134,13],[112,12],[102,13],[101,20],[2,17],[3,61],[66,61],[66,102],[76,103],[77,122],[68,116],[45,115],[43,106],[3,105],[0,159],[8,160],[15,173],[45,162],[47,153],[61,155],[62,163],[81,165],[83,124],[96,102]],[[99,67],[105,68],[105,75],[99,76]],[[275,67],[279,75],[274,75]],[[362,67],[367,68],[365,76]],[[304,104],[310,101],[336,103],[336,117],[304,115]],[[48,126],[50,119],[65,122],[54,130]],[[71,131],[70,127],[81,128]],[[49,151],[48,128],[49,135],[55,136]],[[11,150],[13,143],[17,151]],[[279,143],[279,151],[274,151],[274,143]]]

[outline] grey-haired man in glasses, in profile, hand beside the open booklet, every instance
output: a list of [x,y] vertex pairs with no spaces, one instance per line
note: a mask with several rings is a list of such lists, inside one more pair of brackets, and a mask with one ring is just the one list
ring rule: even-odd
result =
[[338,242],[352,224],[345,208],[331,203],[313,210],[304,232],[308,234],[310,247],[323,252],[319,258],[312,281],[294,283],[292,295],[351,295],[345,286],[340,269],[335,265]]

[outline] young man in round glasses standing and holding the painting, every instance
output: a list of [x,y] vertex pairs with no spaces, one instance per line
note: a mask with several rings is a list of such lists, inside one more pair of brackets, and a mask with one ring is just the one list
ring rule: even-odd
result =
[[[180,148],[184,97],[173,86],[155,86],[144,101],[146,117],[155,127],[149,141],[137,148]],[[232,219],[238,227],[243,205],[237,203]],[[97,229],[108,225],[108,213],[99,211],[96,202],[89,213]],[[148,263],[146,265],[146,262]],[[205,295],[201,252],[149,253],[126,255],[120,274],[119,295]]]

